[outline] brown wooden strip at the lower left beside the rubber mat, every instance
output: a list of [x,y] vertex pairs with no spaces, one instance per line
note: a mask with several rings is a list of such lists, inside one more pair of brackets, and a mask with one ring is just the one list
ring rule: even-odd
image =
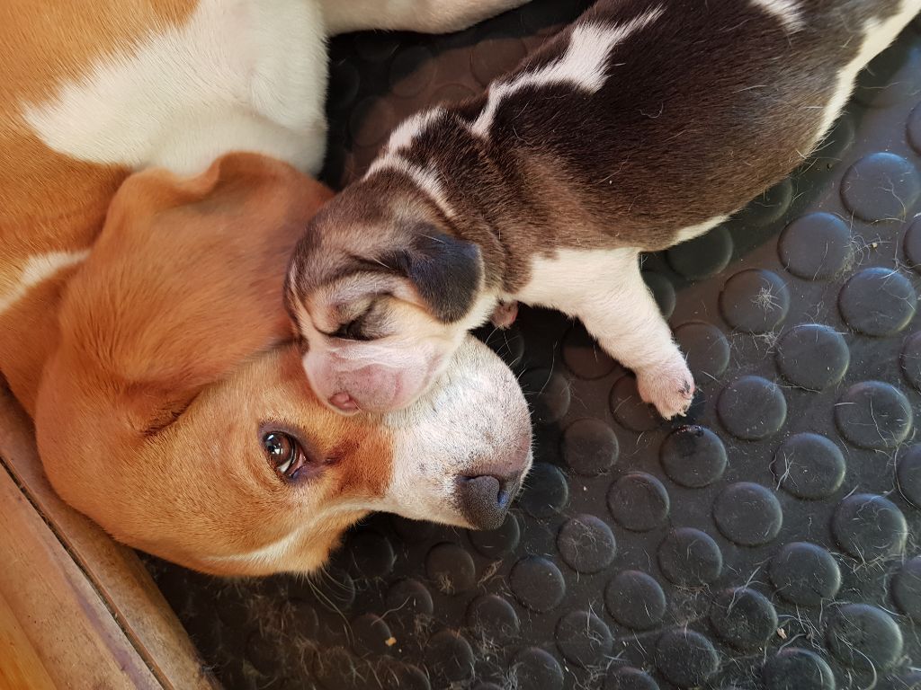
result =
[[[134,551],[54,493],[29,418],[2,387],[0,597],[0,668],[17,668],[4,655],[22,650],[37,687],[42,672],[62,688],[217,687]],[[0,688],[18,688],[4,673]]]

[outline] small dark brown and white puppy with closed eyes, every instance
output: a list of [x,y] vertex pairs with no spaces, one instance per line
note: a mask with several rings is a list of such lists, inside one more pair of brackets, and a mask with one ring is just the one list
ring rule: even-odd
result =
[[784,178],[921,0],[600,0],[478,98],[406,121],[310,224],[286,303],[333,408],[400,408],[522,302],[580,318],[682,415],[638,265]]

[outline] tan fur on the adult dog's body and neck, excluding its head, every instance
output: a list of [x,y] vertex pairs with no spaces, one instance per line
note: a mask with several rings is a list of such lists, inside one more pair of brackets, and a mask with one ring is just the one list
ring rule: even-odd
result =
[[[23,109],[53,98],[106,54],[180,23],[194,6],[194,0],[103,0],[88,9],[79,0],[56,0],[36,12],[30,0],[0,4],[0,295],[31,255],[89,247],[129,174],[52,151],[29,129]],[[53,349],[60,289],[72,272],[61,271],[0,313],[0,373],[28,411]]]

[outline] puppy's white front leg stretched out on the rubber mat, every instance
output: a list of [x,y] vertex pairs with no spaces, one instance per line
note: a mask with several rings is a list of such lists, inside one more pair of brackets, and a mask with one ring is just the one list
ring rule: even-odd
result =
[[534,302],[581,319],[605,351],[634,371],[640,397],[662,417],[687,411],[694,377],[643,282],[638,250],[561,251],[535,265],[531,284],[537,283],[544,294],[533,295]]

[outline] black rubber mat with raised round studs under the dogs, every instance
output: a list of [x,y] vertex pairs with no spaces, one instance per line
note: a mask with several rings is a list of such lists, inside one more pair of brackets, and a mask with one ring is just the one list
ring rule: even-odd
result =
[[[577,12],[335,40],[328,178]],[[313,583],[148,561],[204,658],[234,689],[921,688],[919,167],[921,20],[796,175],[647,258],[700,388],[686,425],[523,310],[490,338],[536,425],[503,527],[379,515]]]

